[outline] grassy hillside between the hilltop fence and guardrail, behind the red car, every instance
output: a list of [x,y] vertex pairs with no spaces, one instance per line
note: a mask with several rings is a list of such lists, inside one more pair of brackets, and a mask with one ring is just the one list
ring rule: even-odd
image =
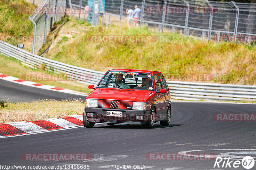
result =
[[[65,27],[71,27],[70,21]],[[46,55],[64,63],[105,72],[112,68],[159,70],[167,77],[183,74],[221,74],[218,83],[256,85],[256,48],[244,44],[201,41],[180,34],[157,33],[145,26],[128,28],[125,24],[76,25],[84,32],[63,36]],[[91,42],[92,35],[168,36],[170,42]],[[208,81],[209,82],[209,81]]]

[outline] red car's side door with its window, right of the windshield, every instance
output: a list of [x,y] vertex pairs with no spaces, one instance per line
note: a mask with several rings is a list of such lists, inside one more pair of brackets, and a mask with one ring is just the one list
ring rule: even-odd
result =
[[158,74],[154,74],[154,81],[155,81],[155,88],[156,88],[156,118],[159,119],[161,117],[164,117],[166,115],[166,112],[164,112],[165,109],[165,94],[159,93],[158,91],[160,89],[163,89],[161,80],[158,76]]

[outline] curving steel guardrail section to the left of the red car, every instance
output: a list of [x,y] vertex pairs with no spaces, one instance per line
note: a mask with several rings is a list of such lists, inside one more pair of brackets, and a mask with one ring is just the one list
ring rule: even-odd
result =
[[0,41],[0,53],[20,60],[28,67],[34,69],[44,68],[45,70],[67,74],[68,77],[71,77],[77,81],[87,82],[93,85],[97,85],[104,75],[104,73],[100,71],[72,66],[29,53],[3,41]]

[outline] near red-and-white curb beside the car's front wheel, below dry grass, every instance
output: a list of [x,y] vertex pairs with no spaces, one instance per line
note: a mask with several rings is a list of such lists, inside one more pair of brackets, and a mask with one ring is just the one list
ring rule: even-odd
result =
[[[102,124],[102,123],[98,123]],[[0,123],[0,138],[59,130],[83,125],[83,115],[54,117],[46,120]]]

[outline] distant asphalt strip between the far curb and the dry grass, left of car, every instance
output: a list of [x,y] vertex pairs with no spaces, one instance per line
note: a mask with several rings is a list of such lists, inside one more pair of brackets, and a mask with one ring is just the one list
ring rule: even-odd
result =
[[0,99],[10,102],[31,102],[42,99],[62,100],[71,98],[84,100],[85,96],[25,86],[0,79]]

